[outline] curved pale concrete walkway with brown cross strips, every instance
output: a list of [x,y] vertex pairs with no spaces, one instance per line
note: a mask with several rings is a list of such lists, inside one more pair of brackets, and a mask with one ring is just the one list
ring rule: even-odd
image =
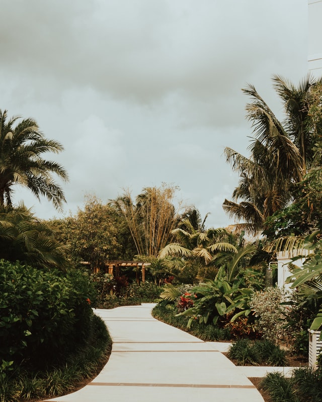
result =
[[154,305],[95,310],[113,340],[101,373],[59,402],[263,402],[247,376],[216,348],[152,318]]

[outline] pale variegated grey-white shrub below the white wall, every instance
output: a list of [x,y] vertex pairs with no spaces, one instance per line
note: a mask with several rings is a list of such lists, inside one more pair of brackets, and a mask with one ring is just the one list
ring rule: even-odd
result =
[[281,303],[285,296],[279,287],[267,287],[264,291],[254,292],[251,308],[255,313],[256,329],[264,339],[278,344],[284,336],[285,307]]

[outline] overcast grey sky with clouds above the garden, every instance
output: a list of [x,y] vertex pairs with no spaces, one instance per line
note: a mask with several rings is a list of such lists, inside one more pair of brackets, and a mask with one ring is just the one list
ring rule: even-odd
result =
[[107,202],[163,182],[180,187],[207,226],[247,154],[254,84],[281,116],[272,75],[307,74],[306,0],[1,0],[0,109],[32,117],[64,151],[64,214],[16,191],[39,218],[75,213],[85,194]]

